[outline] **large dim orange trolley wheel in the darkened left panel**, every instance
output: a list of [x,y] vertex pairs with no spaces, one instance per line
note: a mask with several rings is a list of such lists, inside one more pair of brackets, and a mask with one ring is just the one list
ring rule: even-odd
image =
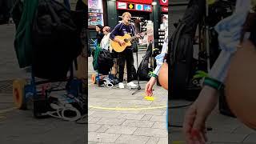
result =
[[14,105],[19,110],[26,110],[26,98],[24,93],[25,85],[26,85],[25,79],[16,79],[13,82]]

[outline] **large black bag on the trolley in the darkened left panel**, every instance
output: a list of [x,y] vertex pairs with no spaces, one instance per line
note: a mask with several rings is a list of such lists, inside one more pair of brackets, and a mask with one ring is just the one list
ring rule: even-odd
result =
[[32,28],[33,72],[38,78],[63,79],[82,50],[81,28],[62,3],[38,0]]

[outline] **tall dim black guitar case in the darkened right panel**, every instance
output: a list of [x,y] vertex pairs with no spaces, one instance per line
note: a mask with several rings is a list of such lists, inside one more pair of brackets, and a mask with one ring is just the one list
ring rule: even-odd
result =
[[206,2],[190,0],[183,18],[172,34],[170,46],[171,98],[185,98],[194,71],[193,44],[198,23],[205,13]]

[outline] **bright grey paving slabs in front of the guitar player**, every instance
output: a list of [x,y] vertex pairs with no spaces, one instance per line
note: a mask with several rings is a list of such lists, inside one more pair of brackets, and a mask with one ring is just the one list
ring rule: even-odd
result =
[[[138,62],[146,52],[138,52]],[[166,102],[168,91],[154,86],[154,101],[144,99],[144,91],[99,87],[92,84],[92,58],[88,59],[89,143],[168,143],[166,130]],[[134,54],[134,66],[136,56]],[[137,81],[134,81],[137,84]],[[142,89],[146,81],[140,82]],[[162,107],[161,107],[162,106]],[[129,110],[133,108],[133,110]],[[152,108],[152,110],[144,110]]]

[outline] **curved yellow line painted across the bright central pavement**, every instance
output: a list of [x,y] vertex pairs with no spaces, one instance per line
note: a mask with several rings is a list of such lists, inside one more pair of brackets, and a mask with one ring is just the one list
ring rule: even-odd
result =
[[102,106],[89,106],[94,109],[102,110],[154,110],[166,108],[166,106],[154,106],[154,107],[102,107]]

